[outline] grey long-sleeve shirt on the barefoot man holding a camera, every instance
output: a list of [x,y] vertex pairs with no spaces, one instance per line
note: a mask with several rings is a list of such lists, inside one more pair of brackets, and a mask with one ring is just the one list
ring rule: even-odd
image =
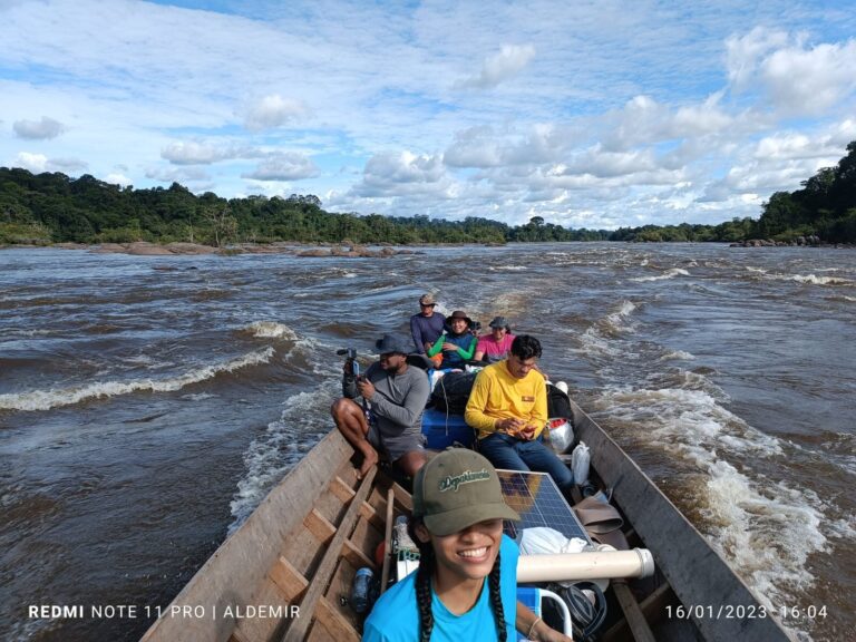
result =
[[[374,386],[374,395],[367,399],[381,436],[398,436],[405,432],[421,432],[425,405],[430,387],[426,373],[415,366],[408,366],[401,374],[390,374],[379,363],[372,363],[366,378]],[[360,396],[357,380],[346,374],[342,392],[349,399]]]

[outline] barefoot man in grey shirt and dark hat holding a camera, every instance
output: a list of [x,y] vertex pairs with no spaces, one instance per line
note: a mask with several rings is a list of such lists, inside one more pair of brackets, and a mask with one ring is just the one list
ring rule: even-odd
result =
[[[378,463],[378,450],[412,477],[426,461],[421,419],[430,395],[428,377],[408,366],[411,350],[403,340],[385,334],[376,346],[380,360],[364,376],[356,378],[352,363],[346,362],[344,397],[333,403],[331,414],[339,431],[363,456],[359,478]],[[358,396],[362,408],[353,401]]]

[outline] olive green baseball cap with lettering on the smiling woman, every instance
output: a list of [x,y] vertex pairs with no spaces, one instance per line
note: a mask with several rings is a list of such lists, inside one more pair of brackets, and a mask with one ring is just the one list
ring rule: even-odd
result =
[[444,450],[419,469],[414,479],[414,517],[421,517],[438,537],[486,519],[521,519],[505,503],[490,461],[466,448]]

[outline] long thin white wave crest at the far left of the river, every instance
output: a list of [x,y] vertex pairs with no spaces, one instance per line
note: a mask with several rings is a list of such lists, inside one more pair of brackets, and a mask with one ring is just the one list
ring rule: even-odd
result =
[[251,352],[223,363],[205,366],[196,370],[163,380],[137,379],[132,381],[97,381],[81,388],[51,390],[33,390],[13,395],[0,395],[0,410],[49,410],[61,406],[72,406],[88,399],[100,397],[118,397],[132,392],[173,392],[185,386],[213,379],[221,372],[234,372],[247,366],[268,363],[274,354],[273,348]]

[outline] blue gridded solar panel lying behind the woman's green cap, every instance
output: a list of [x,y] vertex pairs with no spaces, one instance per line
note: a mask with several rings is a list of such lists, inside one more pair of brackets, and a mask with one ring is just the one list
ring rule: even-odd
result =
[[517,510],[521,522],[506,521],[504,531],[512,538],[523,528],[547,526],[565,537],[592,541],[573,509],[546,473],[497,470],[506,504]]

